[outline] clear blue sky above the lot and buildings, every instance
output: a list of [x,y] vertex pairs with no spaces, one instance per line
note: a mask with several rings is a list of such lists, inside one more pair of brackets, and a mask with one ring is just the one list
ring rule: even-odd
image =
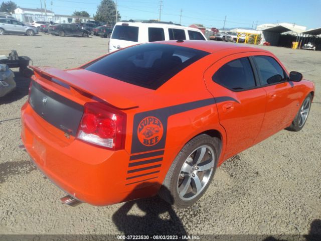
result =
[[[40,8],[40,0],[13,1],[20,7]],[[73,11],[86,10],[91,17],[99,3],[100,0],[46,0],[47,9],[56,14],[71,15]],[[160,3],[160,0],[117,0],[122,20],[158,19]],[[303,25],[307,29],[321,27],[321,0],[163,0],[161,20],[179,23],[181,10],[182,25],[199,23],[222,28],[227,16],[226,28],[281,22]]]

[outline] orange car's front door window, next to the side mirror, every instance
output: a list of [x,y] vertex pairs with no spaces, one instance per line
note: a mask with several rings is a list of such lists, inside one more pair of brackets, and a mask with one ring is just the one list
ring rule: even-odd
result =
[[254,56],[260,74],[261,85],[284,81],[284,71],[275,59],[269,56]]

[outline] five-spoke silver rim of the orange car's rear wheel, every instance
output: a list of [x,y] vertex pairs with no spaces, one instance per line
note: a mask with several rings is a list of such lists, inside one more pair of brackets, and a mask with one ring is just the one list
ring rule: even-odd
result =
[[214,151],[209,146],[198,147],[189,155],[177,181],[177,190],[182,200],[191,200],[202,192],[210,181],[214,164]]

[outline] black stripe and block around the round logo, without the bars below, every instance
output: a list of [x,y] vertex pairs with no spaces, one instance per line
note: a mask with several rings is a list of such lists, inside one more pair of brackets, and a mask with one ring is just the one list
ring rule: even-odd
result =
[[[131,153],[141,153],[141,152],[147,152],[147,151],[155,151],[159,149],[164,149],[165,148],[165,142],[166,142],[166,135],[167,135],[167,121],[169,116],[185,112],[188,110],[204,107],[207,105],[212,105],[215,103],[223,102],[223,101],[235,101],[239,103],[236,99],[229,97],[229,96],[221,96],[221,97],[216,97],[216,98],[208,98],[208,99],[202,99],[202,100],[197,100],[189,103],[184,103],[184,104],[178,104],[178,105],[173,105],[173,106],[168,106],[164,108],[159,108],[159,109],[153,109],[153,110],[148,110],[140,113],[136,113],[134,115],[134,123],[133,123],[133,135],[132,135],[132,144],[131,144]],[[159,121],[163,124],[163,129],[164,133],[163,136],[161,137],[161,140],[159,140],[155,145],[153,146],[145,146],[142,143],[140,143],[137,135],[137,130],[139,123],[148,116],[154,116],[159,119]]]

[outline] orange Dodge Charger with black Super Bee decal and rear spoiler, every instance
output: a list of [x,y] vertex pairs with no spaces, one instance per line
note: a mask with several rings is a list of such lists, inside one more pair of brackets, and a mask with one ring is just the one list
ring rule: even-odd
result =
[[232,43],[153,42],[75,69],[32,68],[21,137],[65,203],[158,193],[191,206],[224,160],[301,130],[314,94],[272,53]]

